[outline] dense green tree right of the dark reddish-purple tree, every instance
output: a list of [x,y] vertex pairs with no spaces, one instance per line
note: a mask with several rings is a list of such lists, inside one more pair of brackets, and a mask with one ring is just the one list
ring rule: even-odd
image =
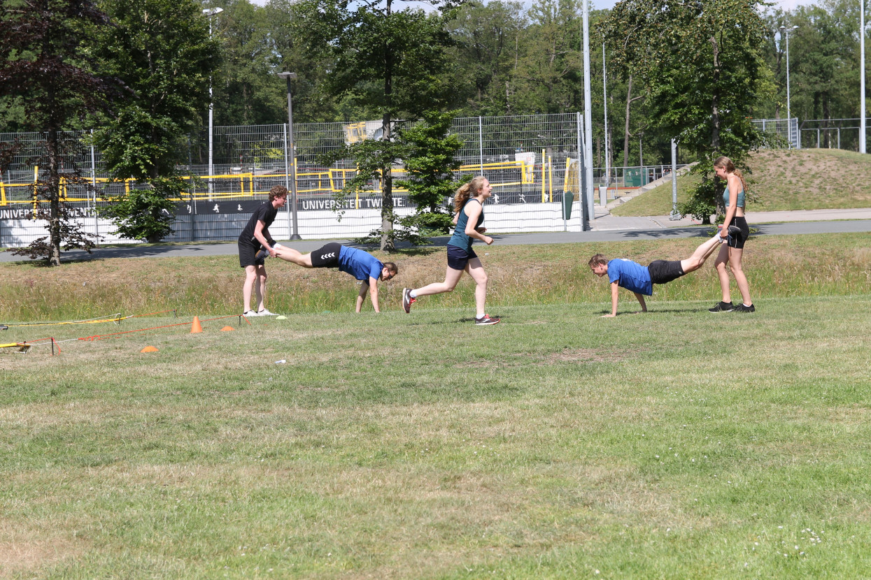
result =
[[209,103],[209,75],[219,45],[194,0],[105,0],[113,26],[102,30],[103,70],[123,79],[133,97],[95,133],[111,177],[145,183],[102,210],[132,239],[159,242],[172,232],[185,188],[178,145]]

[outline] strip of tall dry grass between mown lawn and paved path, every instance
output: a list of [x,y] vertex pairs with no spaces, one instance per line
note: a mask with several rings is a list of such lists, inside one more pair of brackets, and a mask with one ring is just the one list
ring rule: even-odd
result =
[[[607,283],[591,274],[594,253],[628,257],[640,263],[690,256],[701,237],[618,243],[493,246],[481,250],[490,277],[488,303],[519,306],[553,303],[605,303]],[[387,259],[386,256],[380,256]],[[444,250],[392,254],[399,276],[381,284],[382,310],[399,310],[402,287],[440,281]],[[697,272],[656,287],[657,300],[711,300],[719,296],[713,258]],[[745,269],[755,297],[834,296],[867,292],[871,271],[868,235],[753,237]],[[283,314],[354,310],[359,286],[335,270],[305,270],[267,262],[267,306]],[[107,313],[138,314],[178,310],[184,315],[219,316],[241,311],[244,277],[236,257],[109,259],[45,268],[0,263],[0,318],[3,321],[83,319]],[[469,277],[450,294],[424,297],[415,310],[474,305]],[[631,298],[631,295],[627,294]],[[367,308],[371,308],[367,304]]]

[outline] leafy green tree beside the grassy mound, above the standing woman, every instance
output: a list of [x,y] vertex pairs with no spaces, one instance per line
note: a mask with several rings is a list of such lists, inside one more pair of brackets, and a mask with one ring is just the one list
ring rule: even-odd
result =
[[760,54],[765,32],[745,0],[623,0],[606,23],[616,63],[647,91],[652,127],[703,160],[703,183],[685,209],[706,219],[721,185],[714,157],[740,165],[763,138],[751,118],[773,91]]

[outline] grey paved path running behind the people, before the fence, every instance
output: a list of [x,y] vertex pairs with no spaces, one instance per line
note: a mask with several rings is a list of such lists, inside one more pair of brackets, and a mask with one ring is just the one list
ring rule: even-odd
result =
[[[753,235],[771,236],[783,234],[820,234],[832,232],[871,232],[871,208],[859,210],[796,210],[747,212],[747,222],[756,230]],[[596,206],[596,218],[591,231],[556,232],[535,234],[496,234],[493,239],[500,245],[528,243],[577,243],[618,242],[633,239],[668,239],[673,237],[707,237],[712,235],[712,226],[682,218],[672,221],[668,216],[618,217]],[[436,237],[436,246],[446,245],[448,237]],[[301,252],[317,250],[324,243],[334,241],[350,243],[349,240],[303,240],[282,242]],[[98,248],[89,255],[80,250],[62,254],[64,260],[80,260],[112,257],[193,257],[227,256],[237,253],[236,244],[190,243],[184,245],[128,246],[124,248]],[[23,259],[10,252],[0,252],[0,262],[17,262]]]

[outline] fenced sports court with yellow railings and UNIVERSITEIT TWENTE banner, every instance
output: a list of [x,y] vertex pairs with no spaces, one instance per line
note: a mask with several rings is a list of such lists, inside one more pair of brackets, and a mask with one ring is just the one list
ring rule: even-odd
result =
[[[760,122],[757,122],[758,124]],[[766,125],[767,123],[767,125]],[[772,124],[773,123],[773,124]],[[800,130],[793,119],[762,121],[760,128],[793,138],[798,147]],[[381,191],[352,196],[341,191],[354,174],[354,163],[343,160],[326,165],[322,158],[346,143],[364,138],[368,125],[377,123],[294,124],[294,155],[290,155],[287,125],[215,127],[213,173],[209,174],[206,134],[192,135],[179,151],[186,164],[179,172],[189,187],[178,200],[173,233],[167,242],[233,240],[238,237],[254,208],[265,201],[274,185],[290,189],[289,177],[296,170],[299,234],[303,239],[363,237],[381,226]],[[451,132],[463,139],[458,157],[461,176],[483,175],[493,185],[487,204],[487,227],[492,232],[580,231],[584,208],[580,203],[582,116],[579,113],[516,117],[456,118]],[[791,127],[791,128],[790,128]],[[77,168],[92,187],[62,183],[61,194],[85,231],[97,234],[103,243],[117,243],[114,225],[98,217],[96,208],[141,185],[132,181],[111,182],[105,173],[101,152],[91,144],[92,131],[64,134],[68,149],[64,170]],[[365,135],[365,137],[376,137]],[[20,247],[46,234],[45,223],[33,218],[35,183],[44,169],[35,165],[43,157],[44,139],[38,133],[0,134],[0,142],[17,140],[22,149],[0,176],[0,246]],[[662,177],[667,166],[614,168],[607,179],[612,191],[635,188]],[[402,165],[394,177],[405,177]],[[594,170],[594,182],[604,183],[604,170]],[[594,183],[594,185],[595,185]],[[564,197],[573,202],[568,217]],[[403,190],[394,190],[395,212],[408,215],[415,208]],[[290,204],[281,210],[271,228],[276,239],[291,235]]]

